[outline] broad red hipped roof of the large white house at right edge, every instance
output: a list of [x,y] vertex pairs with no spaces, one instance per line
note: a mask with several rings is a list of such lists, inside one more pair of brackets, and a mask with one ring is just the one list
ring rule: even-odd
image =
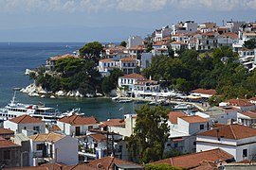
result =
[[198,135],[239,140],[256,136],[256,129],[233,124],[201,132]]

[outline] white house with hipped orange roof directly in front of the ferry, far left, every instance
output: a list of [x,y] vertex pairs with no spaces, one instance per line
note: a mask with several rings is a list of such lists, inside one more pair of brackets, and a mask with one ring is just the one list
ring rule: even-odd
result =
[[46,133],[46,122],[28,116],[27,114],[5,121],[4,127],[15,131],[15,133],[23,132],[28,136],[37,133]]

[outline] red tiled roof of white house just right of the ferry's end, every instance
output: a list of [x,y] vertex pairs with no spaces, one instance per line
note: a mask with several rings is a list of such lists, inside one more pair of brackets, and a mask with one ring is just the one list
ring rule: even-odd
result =
[[73,114],[71,116],[63,117],[59,121],[64,122],[66,124],[70,124],[72,126],[99,124],[98,120],[93,116],[91,116],[91,117],[82,117],[82,116],[79,116],[77,114]]

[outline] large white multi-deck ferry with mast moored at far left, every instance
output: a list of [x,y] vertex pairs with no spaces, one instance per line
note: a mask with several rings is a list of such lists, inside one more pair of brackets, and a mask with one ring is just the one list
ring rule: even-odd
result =
[[0,119],[1,120],[8,120],[12,119],[24,114],[29,116],[39,118],[45,122],[55,122],[62,113],[59,110],[54,108],[47,108],[44,104],[24,104],[24,103],[17,103],[16,99],[16,91],[10,103],[5,106],[4,108],[0,109]]

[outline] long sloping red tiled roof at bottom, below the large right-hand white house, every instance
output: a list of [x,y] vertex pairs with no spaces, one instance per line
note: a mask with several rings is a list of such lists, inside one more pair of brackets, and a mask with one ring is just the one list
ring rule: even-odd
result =
[[171,166],[183,167],[183,168],[192,168],[200,165],[201,161],[229,161],[232,160],[233,156],[228,152],[216,148],[207,151],[192,153],[189,155],[173,157],[165,160],[152,162],[153,164],[158,163],[168,163]]

